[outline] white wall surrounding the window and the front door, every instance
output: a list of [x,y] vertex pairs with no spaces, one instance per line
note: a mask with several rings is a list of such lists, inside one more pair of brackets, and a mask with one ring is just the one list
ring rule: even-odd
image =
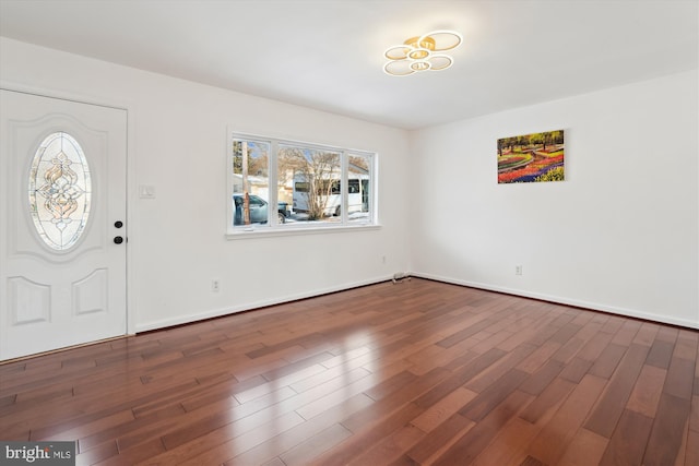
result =
[[[0,38],[0,82],[129,110],[130,330],[407,270],[407,132]],[[375,151],[378,230],[227,241],[226,129]],[[138,196],[153,184],[156,199]],[[386,256],[386,263],[382,258]],[[221,291],[211,291],[211,279]]]

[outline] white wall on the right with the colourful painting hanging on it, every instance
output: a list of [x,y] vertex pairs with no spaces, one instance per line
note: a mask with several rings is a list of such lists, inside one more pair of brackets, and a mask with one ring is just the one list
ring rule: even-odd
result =
[[[686,72],[412,133],[411,270],[699,327],[698,82]],[[497,184],[499,138],[559,129],[566,181]]]

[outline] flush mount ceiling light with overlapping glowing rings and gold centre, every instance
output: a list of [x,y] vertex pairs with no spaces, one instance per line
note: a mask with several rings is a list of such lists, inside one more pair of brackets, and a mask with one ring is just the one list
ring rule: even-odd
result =
[[459,47],[461,41],[461,35],[453,31],[433,31],[419,37],[411,37],[383,52],[389,59],[383,71],[392,76],[407,76],[420,71],[446,70],[454,61],[441,52]]

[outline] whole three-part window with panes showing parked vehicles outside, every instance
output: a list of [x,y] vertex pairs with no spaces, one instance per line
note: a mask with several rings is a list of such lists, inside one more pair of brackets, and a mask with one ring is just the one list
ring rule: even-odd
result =
[[375,154],[241,134],[229,147],[228,232],[375,224]]

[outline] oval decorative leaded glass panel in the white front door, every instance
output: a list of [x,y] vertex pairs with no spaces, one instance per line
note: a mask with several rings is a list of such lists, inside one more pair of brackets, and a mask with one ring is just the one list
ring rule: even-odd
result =
[[82,147],[64,132],[39,145],[29,172],[29,208],[36,231],[51,249],[72,248],[87,225],[92,181]]

